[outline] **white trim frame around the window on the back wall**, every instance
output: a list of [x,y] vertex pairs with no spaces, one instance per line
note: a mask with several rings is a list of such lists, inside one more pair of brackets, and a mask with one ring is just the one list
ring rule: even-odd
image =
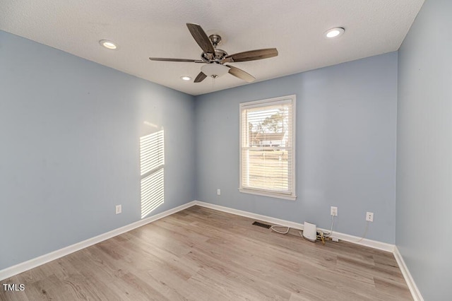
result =
[[[287,100],[287,101],[284,101]],[[242,163],[242,126],[243,126],[243,121],[242,121],[242,111],[246,110],[246,109],[251,109],[254,107],[262,107],[262,106],[266,106],[266,105],[272,105],[272,104],[281,104],[281,103],[290,103],[292,102],[292,162],[291,162],[291,170],[292,170],[292,191],[290,193],[278,193],[277,191],[273,192],[273,191],[267,191],[267,190],[263,190],[263,189],[256,189],[256,188],[244,188],[242,186],[242,180],[243,180],[243,175],[242,175],[242,167],[243,167],[243,163]],[[260,196],[270,196],[273,198],[278,198],[278,199],[289,199],[292,201],[295,201],[295,199],[297,199],[297,195],[295,193],[296,191],[296,186],[297,186],[297,181],[295,178],[295,174],[296,174],[296,170],[295,170],[295,157],[296,157],[296,151],[295,151],[295,138],[297,137],[296,133],[295,133],[295,129],[297,128],[296,126],[296,120],[297,120],[297,107],[296,107],[296,96],[295,94],[293,95],[287,95],[287,96],[282,96],[282,97],[278,97],[278,98],[270,98],[270,99],[266,99],[266,100],[255,100],[255,101],[251,101],[251,102],[241,102],[239,104],[239,118],[240,118],[240,122],[239,122],[239,191],[246,193],[246,194],[257,194]]]

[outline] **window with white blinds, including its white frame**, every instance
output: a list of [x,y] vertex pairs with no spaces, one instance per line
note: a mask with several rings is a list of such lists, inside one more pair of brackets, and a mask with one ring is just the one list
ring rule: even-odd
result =
[[295,200],[295,95],[240,104],[239,191]]

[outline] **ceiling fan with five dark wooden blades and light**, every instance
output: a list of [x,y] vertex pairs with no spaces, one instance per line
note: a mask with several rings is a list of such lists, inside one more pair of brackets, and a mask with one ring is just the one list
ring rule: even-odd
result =
[[244,81],[251,83],[256,78],[251,74],[246,73],[242,69],[227,65],[226,63],[233,63],[237,61],[256,61],[257,59],[268,59],[269,57],[278,56],[276,48],[256,49],[246,52],[239,52],[236,54],[227,54],[225,50],[218,49],[217,46],[221,42],[220,35],[207,36],[201,25],[194,23],[186,23],[191,35],[198,43],[199,47],[203,49],[201,59],[166,59],[161,57],[150,57],[151,61],[185,61],[191,63],[203,63],[201,72],[196,76],[194,82],[201,83],[208,76],[218,78],[225,73],[230,73],[233,76],[241,78]]

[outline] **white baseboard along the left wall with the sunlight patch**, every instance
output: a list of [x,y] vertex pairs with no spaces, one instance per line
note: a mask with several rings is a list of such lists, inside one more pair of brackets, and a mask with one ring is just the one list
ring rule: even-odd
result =
[[135,223],[131,223],[129,225],[125,225],[124,227],[117,228],[115,230],[106,232],[104,234],[88,238],[88,240],[83,240],[83,242],[77,242],[76,244],[71,244],[68,247],[58,249],[54,252],[44,254],[42,256],[36,257],[34,259],[30,259],[30,260],[22,262],[20,264],[16,264],[15,266],[10,266],[9,268],[5,268],[0,271],[0,281],[4,280],[6,278],[9,278],[9,277],[15,276],[18,273],[23,273],[25,271],[28,271],[28,270],[35,268],[37,266],[40,266],[42,264],[46,264],[49,261],[59,259],[62,256],[69,255],[73,252],[84,249],[85,247],[90,247],[93,244],[97,244],[104,240],[108,240],[109,238],[112,238],[114,236],[120,235],[122,233],[136,229],[143,225],[146,225],[148,223],[152,223],[155,220],[160,220],[160,218],[165,218],[165,216],[169,216],[173,213],[184,210],[185,208],[194,206],[195,204],[196,204],[195,201],[191,201],[189,203],[184,203],[184,205],[177,206],[176,208],[169,209],[162,213],[158,213],[155,216],[150,216],[149,218],[143,218],[142,220],[138,220]]

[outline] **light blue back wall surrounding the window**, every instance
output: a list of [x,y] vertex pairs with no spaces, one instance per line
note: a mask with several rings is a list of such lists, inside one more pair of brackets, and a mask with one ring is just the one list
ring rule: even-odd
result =
[[[197,199],[395,242],[397,53],[196,97]],[[297,95],[297,200],[242,194],[239,103]],[[217,189],[221,195],[217,196]]]

